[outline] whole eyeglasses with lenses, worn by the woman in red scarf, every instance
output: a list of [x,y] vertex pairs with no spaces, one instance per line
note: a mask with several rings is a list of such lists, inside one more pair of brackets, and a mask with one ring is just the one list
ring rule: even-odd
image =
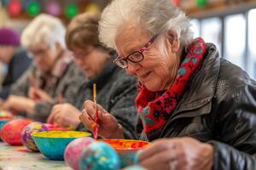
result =
[[128,67],[128,60],[131,61],[132,63],[138,63],[141,62],[144,59],[143,52],[148,49],[148,47],[154,42],[156,37],[159,34],[156,34],[154,37],[152,37],[144,46],[138,51],[132,52],[125,58],[120,58],[118,56],[116,59],[113,60],[113,63],[118,65],[119,67],[125,69]]

